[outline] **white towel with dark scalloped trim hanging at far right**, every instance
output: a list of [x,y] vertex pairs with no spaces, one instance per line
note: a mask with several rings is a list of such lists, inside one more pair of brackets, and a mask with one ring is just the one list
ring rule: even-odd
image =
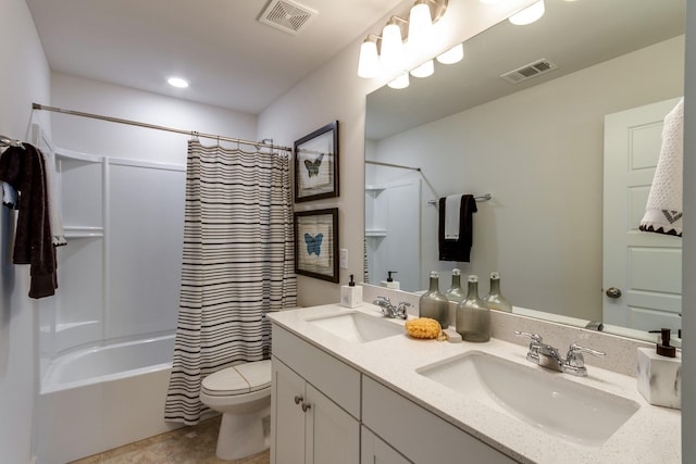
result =
[[682,236],[684,98],[664,116],[662,147],[641,230]]

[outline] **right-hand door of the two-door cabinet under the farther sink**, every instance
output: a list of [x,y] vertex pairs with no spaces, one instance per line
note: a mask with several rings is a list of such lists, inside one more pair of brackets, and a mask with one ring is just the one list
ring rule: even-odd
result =
[[[307,384],[306,440],[308,464],[358,464],[360,423]],[[300,462],[300,461],[297,461]]]

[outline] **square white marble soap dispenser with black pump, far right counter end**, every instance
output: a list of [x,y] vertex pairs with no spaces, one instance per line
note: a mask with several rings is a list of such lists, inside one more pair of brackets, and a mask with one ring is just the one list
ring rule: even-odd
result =
[[655,348],[638,348],[638,391],[656,406],[682,409],[682,355],[670,346],[670,329],[660,330]]

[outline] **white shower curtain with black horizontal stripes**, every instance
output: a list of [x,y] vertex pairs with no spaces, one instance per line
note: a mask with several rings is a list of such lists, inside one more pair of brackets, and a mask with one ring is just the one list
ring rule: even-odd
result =
[[165,421],[197,424],[207,375],[271,355],[297,302],[289,155],[188,142],[179,313]]

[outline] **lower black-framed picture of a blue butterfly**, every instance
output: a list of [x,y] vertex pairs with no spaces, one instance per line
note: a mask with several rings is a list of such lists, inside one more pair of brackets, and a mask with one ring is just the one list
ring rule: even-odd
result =
[[338,283],[338,208],[295,212],[295,273]]

